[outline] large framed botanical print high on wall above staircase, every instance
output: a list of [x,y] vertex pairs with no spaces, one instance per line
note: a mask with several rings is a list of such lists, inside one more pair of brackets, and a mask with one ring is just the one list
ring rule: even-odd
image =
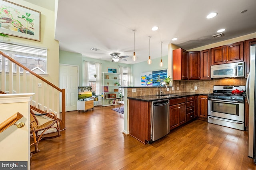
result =
[[0,0],[0,33],[40,41],[41,12]]

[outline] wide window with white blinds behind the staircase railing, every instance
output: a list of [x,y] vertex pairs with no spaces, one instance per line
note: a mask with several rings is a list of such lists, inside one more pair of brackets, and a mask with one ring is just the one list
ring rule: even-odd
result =
[[[12,57],[35,73],[46,73],[47,49],[0,42],[0,51],[6,53],[6,55]],[[0,63],[3,58],[0,56]],[[8,59],[5,59],[5,63],[5,70],[9,72]],[[16,72],[16,69],[15,66],[12,71]],[[2,65],[0,65],[0,70],[2,70]],[[20,68],[20,72],[23,73],[22,68]]]

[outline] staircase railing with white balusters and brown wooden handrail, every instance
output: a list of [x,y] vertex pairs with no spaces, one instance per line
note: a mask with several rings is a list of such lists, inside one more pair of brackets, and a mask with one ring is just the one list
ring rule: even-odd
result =
[[[41,111],[54,113],[60,121],[60,130],[66,128],[65,89],[60,89],[53,85],[2,51],[0,51],[0,58],[1,57],[0,90],[9,94],[35,93],[35,95],[32,96],[30,105]],[[6,63],[8,64],[6,65]],[[21,68],[23,71],[20,71],[22,70]]]

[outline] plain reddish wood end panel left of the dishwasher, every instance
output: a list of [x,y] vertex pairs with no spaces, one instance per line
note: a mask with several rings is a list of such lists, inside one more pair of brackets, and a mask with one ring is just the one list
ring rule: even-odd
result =
[[129,132],[144,144],[151,136],[150,107],[150,102],[129,99]]

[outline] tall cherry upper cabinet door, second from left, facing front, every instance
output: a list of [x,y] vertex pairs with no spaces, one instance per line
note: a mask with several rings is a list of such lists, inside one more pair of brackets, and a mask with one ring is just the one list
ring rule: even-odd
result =
[[188,52],[189,80],[200,80],[200,51]]

